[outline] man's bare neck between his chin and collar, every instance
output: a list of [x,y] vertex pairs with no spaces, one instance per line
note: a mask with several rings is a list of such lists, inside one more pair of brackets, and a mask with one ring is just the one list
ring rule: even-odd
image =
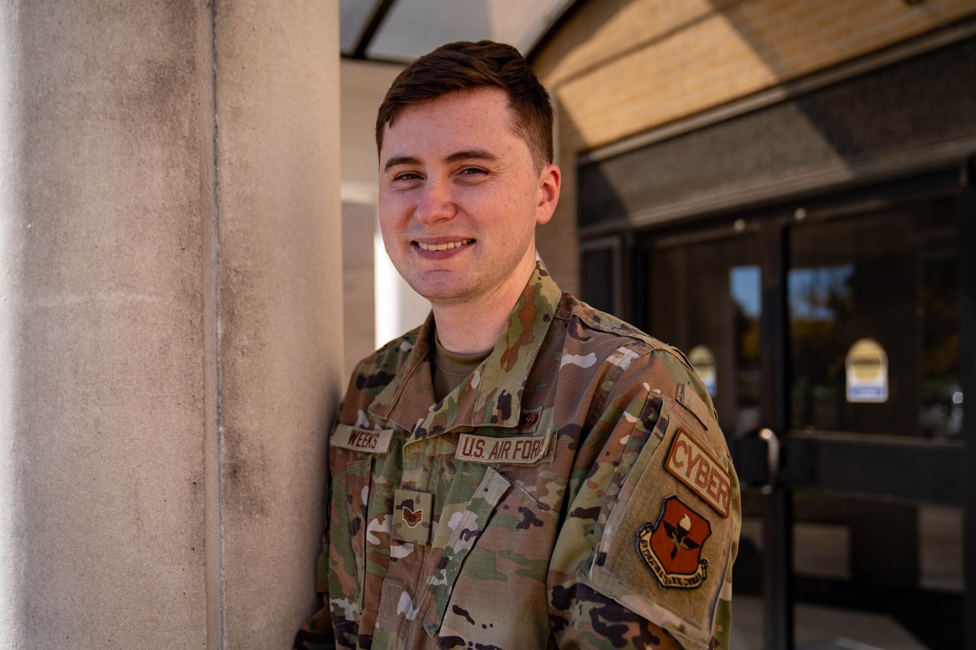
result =
[[529,247],[515,271],[490,291],[460,301],[431,301],[440,345],[457,354],[491,349],[505,327],[508,313],[532,277],[535,253],[535,247]]

